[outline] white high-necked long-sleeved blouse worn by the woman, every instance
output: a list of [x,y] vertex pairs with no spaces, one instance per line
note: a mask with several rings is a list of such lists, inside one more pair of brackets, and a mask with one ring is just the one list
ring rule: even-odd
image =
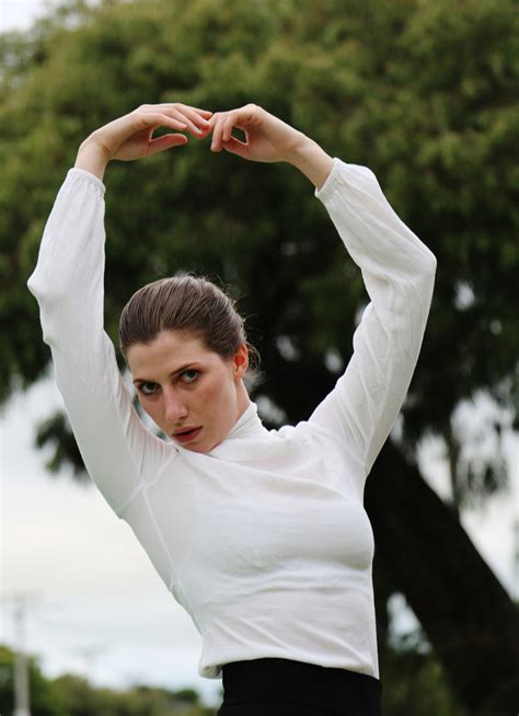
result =
[[103,330],[92,174],[69,171],[28,281],[86,469],[192,616],[208,678],[263,657],[379,675],[364,486],[415,368],[436,259],[370,170],[334,159],[315,196],[371,301],[354,355],[308,421],[267,430],[252,403],[208,454],[157,438],[132,406]]

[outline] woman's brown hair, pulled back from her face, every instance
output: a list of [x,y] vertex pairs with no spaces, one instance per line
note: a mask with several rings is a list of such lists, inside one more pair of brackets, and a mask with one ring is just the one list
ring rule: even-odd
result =
[[130,346],[149,344],[161,331],[185,331],[226,359],[245,343],[252,362],[257,363],[258,353],[247,343],[244,320],[234,304],[212,281],[191,274],[147,284],[120,314],[120,350],[126,358]]

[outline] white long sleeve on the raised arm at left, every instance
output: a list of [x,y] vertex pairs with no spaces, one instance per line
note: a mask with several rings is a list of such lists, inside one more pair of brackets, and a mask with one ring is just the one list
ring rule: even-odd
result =
[[104,185],[69,171],[28,279],[86,469],[119,516],[172,451],[142,425],[103,330]]

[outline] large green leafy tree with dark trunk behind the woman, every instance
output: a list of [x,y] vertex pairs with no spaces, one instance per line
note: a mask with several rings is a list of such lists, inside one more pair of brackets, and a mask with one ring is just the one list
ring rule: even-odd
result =
[[[145,101],[264,105],[330,153],[371,166],[436,253],[401,438],[368,481],[380,650],[383,666],[384,607],[401,591],[460,702],[494,716],[517,705],[517,608],[458,511],[506,487],[499,440],[517,408],[518,25],[514,0],[315,0],[304,12],[296,0],[78,0],[28,38],[0,41],[3,400],[48,363],[25,281],[64,172],[85,135]],[[193,142],[111,166],[107,185],[108,333],[142,284],[180,268],[220,276],[263,355],[255,397],[278,408],[273,423],[307,417],[347,361],[367,300],[307,181]],[[491,458],[457,419],[481,392],[499,407],[482,428],[495,440]],[[54,469],[67,459],[80,472],[65,428],[53,417],[39,439],[57,444]],[[446,446],[452,505],[416,464],[430,435]]]

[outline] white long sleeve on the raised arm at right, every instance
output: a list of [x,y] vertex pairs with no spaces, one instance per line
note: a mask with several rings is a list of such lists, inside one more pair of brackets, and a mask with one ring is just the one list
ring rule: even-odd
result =
[[310,424],[338,438],[366,477],[410,386],[436,258],[393,211],[369,169],[334,159],[315,196],[360,267],[370,303],[355,332],[346,371]]

